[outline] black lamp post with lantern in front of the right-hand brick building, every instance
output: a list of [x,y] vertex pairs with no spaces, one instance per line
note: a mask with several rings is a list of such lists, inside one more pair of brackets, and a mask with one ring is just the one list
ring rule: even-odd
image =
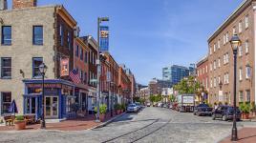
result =
[[233,50],[233,54],[234,54],[234,112],[233,112],[233,128],[232,128],[232,135],[231,135],[231,141],[237,141],[238,140],[238,137],[237,137],[237,107],[236,107],[236,104],[237,104],[237,97],[236,97],[236,91],[237,91],[237,78],[236,78],[236,74],[237,74],[237,50],[238,48],[240,47],[241,45],[241,40],[239,39],[238,35],[237,34],[234,34],[230,40],[230,44],[231,44],[231,48]]

